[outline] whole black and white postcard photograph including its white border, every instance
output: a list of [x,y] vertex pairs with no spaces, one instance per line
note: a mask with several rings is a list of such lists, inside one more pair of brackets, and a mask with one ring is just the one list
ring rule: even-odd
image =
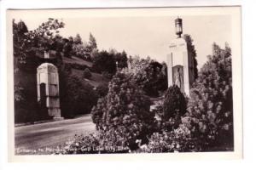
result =
[[9,152],[241,157],[240,11],[9,9]]

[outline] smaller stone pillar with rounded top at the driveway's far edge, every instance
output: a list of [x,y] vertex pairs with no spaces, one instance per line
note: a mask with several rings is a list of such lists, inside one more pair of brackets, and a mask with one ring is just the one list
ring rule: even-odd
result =
[[[44,53],[44,58],[49,59],[49,54]],[[41,108],[45,108],[48,115],[55,120],[63,119],[60,109],[58,69],[55,65],[48,62],[39,65],[37,82],[38,102]]]

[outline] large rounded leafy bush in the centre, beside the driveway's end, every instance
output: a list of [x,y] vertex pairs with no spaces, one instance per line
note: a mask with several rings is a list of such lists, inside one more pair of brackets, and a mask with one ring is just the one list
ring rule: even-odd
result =
[[109,82],[108,95],[98,100],[91,114],[98,130],[133,150],[136,139],[147,140],[154,127],[154,115],[149,112],[150,100],[131,77],[117,72]]

